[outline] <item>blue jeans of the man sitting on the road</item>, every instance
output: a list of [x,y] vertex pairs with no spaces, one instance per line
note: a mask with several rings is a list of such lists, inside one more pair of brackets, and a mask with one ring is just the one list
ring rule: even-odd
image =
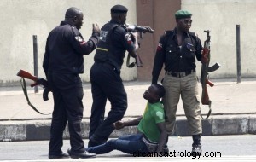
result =
[[89,153],[109,153],[113,150],[119,150],[124,153],[148,152],[147,146],[142,140],[143,134],[120,136],[118,139],[108,140],[108,142],[91,148],[86,148]]

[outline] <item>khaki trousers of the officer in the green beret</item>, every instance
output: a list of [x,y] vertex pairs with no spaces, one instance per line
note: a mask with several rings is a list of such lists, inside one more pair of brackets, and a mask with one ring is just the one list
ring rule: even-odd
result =
[[190,133],[192,135],[201,134],[201,108],[196,72],[183,78],[172,77],[166,74],[163,86],[166,89],[164,107],[167,133],[169,135],[173,133],[177,104],[181,95]]

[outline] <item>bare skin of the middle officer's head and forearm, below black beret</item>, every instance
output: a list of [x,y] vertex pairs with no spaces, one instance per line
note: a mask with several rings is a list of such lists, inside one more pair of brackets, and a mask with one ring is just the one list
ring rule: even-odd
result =
[[[125,14],[125,13],[111,14],[112,20],[116,20],[120,25],[125,24],[126,17],[127,17],[127,14]],[[133,38],[135,39],[135,41],[134,41],[135,49],[130,52],[130,55],[135,58],[135,57],[137,57],[137,49],[139,48],[138,43],[137,43],[137,32],[134,32],[131,34],[133,35]]]

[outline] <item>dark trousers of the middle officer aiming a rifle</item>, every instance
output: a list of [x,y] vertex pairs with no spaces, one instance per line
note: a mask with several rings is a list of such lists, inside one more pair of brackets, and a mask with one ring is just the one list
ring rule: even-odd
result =
[[[113,123],[122,119],[127,109],[127,95],[119,72],[107,63],[95,63],[90,69],[93,103],[90,115],[90,140],[107,142]],[[111,110],[104,119],[107,99]]]

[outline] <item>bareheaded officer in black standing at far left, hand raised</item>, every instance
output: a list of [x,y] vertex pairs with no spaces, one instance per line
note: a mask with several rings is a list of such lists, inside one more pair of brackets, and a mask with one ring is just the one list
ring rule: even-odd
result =
[[68,157],[61,151],[67,121],[71,144],[67,151],[69,155],[72,158],[95,156],[85,151],[81,135],[84,92],[79,73],[84,72],[83,56],[96,49],[100,28],[93,24],[92,35],[85,42],[79,32],[83,18],[81,10],[67,9],[65,20],[49,33],[46,42],[43,67],[55,104],[50,128],[49,159]]

